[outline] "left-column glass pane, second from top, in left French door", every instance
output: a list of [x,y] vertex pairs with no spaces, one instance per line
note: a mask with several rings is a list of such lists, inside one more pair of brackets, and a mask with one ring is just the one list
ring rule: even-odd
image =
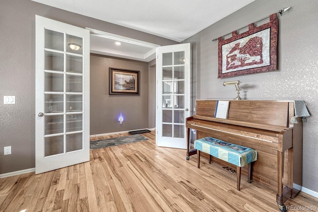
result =
[[45,51],[45,70],[64,71],[64,54]]

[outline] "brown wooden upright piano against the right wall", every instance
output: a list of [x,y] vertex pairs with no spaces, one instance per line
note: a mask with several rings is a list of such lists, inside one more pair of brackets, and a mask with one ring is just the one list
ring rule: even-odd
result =
[[[196,139],[214,137],[256,149],[252,181],[276,190],[277,204],[284,206],[302,189],[303,124],[302,117],[297,118],[298,124],[291,123],[294,101],[230,100],[227,119],[214,118],[216,103],[196,100],[196,115],[186,120],[187,159],[196,154],[190,129],[196,130]],[[247,175],[246,169],[242,174]]]

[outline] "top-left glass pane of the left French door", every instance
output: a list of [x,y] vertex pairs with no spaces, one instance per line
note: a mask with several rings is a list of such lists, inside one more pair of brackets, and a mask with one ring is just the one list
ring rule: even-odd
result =
[[45,47],[58,51],[64,51],[64,33],[45,29]]

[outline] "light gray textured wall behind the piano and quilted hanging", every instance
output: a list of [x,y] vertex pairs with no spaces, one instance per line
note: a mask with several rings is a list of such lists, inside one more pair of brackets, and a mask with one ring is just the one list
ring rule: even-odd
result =
[[[278,15],[278,69],[218,79],[218,38],[283,7]],[[244,99],[305,100],[311,113],[303,132],[303,186],[318,192],[318,1],[255,0],[207,27],[183,43],[192,44],[193,105],[195,99],[232,99],[235,87],[224,81],[240,80]]]

